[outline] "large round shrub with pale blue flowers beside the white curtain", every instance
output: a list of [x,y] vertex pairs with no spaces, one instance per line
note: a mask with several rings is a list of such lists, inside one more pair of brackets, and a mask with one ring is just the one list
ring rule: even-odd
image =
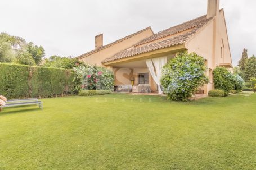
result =
[[195,53],[180,53],[163,68],[161,85],[169,100],[187,101],[208,83],[204,59]]

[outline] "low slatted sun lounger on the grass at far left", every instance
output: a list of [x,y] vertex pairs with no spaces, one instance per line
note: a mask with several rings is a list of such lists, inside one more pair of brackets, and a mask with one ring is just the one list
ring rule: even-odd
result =
[[39,101],[37,98],[32,98],[32,99],[7,100],[6,105],[0,106],[0,111],[4,107],[15,107],[20,105],[38,105],[39,108],[43,109],[43,102]]

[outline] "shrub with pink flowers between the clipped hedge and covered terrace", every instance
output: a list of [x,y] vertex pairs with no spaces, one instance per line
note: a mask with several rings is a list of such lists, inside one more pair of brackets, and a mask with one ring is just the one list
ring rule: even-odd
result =
[[113,90],[114,74],[104,67],[80,65],[73,68],[77,78],[81,80],[83,90]]

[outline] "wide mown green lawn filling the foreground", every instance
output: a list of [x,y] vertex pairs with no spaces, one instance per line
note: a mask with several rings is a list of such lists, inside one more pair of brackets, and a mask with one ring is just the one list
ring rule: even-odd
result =
[[256,94],[109,94],[0,113],[0,169],[256,169]]

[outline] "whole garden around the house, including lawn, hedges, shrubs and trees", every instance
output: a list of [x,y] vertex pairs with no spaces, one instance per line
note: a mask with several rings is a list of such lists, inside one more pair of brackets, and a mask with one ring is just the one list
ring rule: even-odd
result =
[[256,59],[245,51],[234,72],[213,70],[209,97],[192,100],[209,82],[195,53],[171,59],[166,95],[150,96],[113,93],[104,67],[42,63],[44,49],[16,36],[1,33],[0,47],[0,94],[44,103],[0,112],[0,169],[256,169]]

